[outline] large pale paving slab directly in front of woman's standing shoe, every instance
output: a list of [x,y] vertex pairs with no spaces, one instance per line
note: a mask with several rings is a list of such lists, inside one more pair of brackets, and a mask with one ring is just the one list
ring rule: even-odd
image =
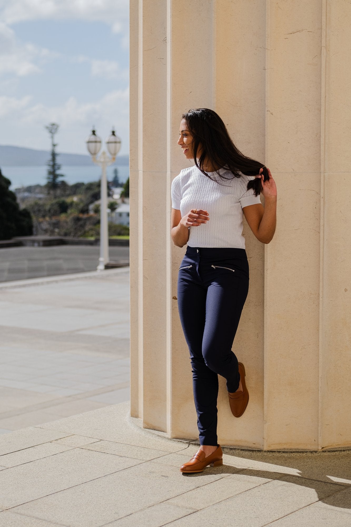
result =
[[71,527],[98,527],[221,477],[210,472],[183,477],[169,465],[146,461],[14,510]]

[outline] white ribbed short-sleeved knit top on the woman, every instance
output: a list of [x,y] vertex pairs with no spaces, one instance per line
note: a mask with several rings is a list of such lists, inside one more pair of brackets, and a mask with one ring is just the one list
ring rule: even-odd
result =
[[[197,167],[183,169],[172,181],[172,208],[178,209],[182,217],[191,209],[207,210],[210,219],[198,227],[189,227],[190,247],[238,247],[245,249],[242,236],[242,209],[261,203],[247,183],[255,176],[241,174],[240,178],[220,169],[228,177],[222,180],[215,172],[208,172],[211,180]],[[227,175],[226,175],[227,174]],[[232,179],[230,179],[232,178]],[[219,183],[217,182],[219,181]]]

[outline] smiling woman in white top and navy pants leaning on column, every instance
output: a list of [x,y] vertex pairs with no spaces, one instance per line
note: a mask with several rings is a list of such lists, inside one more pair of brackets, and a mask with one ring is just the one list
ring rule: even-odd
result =
[[178,144],[195,166],[172,181],[171,236],[178,247],[188,244],[178,274],[178,307],[200,440],[200,449],[180,471],[202,472],[223,463],[217,443],[218,374],[227,380],[235,417],[249,400],[245,368],[231,350],[249,288],[242,214],[256,238],[269,243],[276,228],[277,188],[269,169],[239,152],[216,112],[190,110],[182,115],[179,132]]

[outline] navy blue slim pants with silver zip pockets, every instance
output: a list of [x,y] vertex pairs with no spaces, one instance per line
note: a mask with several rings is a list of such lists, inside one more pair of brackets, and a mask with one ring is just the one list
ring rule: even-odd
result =
[[245,249],[187,247],[179,266],[178,308],[192,366],[201,445],[217,445],[218,374],[236,392],[231,347],[249,289]]

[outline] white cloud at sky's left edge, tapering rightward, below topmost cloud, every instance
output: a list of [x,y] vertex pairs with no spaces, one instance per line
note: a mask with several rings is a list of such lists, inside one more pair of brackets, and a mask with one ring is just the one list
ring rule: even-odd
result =
[[46,48],[18,42],[13,30],[0,23],[0,75],[12,73],[24,77],[32,73],[40,73],[40,65],[56,56],[58,53]]

